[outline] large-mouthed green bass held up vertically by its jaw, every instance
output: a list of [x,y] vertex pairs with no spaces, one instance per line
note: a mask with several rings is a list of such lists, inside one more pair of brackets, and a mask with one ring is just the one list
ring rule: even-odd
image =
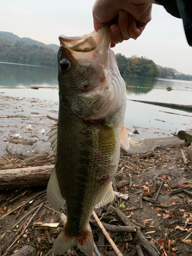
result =
[[59,36],[59,41],[58,123],[48,134],[56,161],[47,199],[57,210],[66,203],[67,223],[52,253],[77,246],[92,256],[92,212],[114,199],[120,143],[129,147],[123,123],[126,88],[110,49],[109,26],[84,36]]

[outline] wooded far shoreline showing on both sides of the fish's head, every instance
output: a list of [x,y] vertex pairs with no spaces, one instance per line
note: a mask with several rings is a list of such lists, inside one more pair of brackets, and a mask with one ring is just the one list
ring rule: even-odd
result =
[[[158,68],[153,60],[134,55],[126,58],[116,54],[116,59],[121,75],[160,77],[182,80],[192,80],[192,76],[175,73],[172,69]],[[56,67],[57,54],[46,46],[27,45],[26,42],[17,40],[15,44],[8,39],[0,38],[0,61]]]

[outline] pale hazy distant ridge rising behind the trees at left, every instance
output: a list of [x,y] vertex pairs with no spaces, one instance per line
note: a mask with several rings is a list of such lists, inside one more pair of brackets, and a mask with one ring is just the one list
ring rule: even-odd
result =
[[46,45],[43,42],[33,40],[29,37],[19,37],[10,32],[0,31],[0,37],[10,40],[12,42],[12,44],[15,44],[15,42],[17,42],[17,41],[24,41],[24,42],[26,42],[27,45],[37,45],[37,46],[42,46],[42,47],[49,47],[49,48],[53,49],[55,52],[58,52],[58,50],[59,50],[59,46],[57,46],[57,45],[54,45],[54,44]]

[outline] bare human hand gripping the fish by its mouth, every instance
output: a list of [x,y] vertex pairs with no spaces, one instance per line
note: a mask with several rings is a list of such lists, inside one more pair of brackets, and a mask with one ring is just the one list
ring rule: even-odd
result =
[[[96,0],[93,6],[94,28],[111,24],[111,47],[141,35],[151,20],[153,0]],[[118,20],[117,23],[115,20]]]

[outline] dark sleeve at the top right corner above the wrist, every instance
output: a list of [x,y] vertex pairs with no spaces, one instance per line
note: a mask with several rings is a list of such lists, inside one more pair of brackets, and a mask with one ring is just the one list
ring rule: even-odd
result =
[[192,1],[191,0],[155,0],[164,6],[166,11],[177,18],[183,19],[187,42],[192,46]]

